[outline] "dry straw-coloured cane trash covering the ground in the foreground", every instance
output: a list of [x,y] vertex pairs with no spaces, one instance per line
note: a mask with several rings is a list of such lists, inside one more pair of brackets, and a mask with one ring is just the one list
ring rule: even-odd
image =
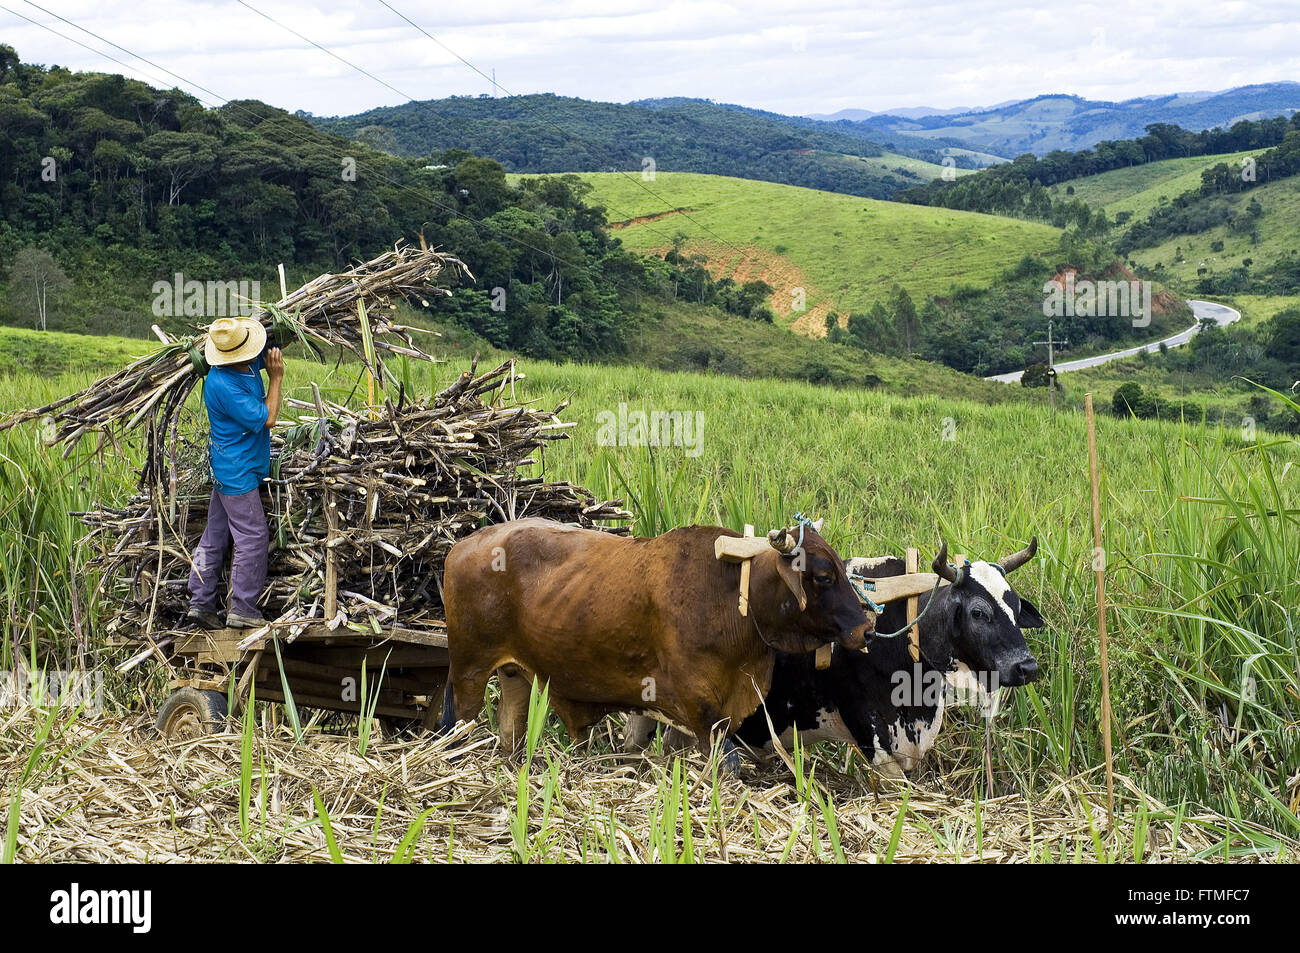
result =
[[[22,709],[0,720],[0,788],[12,790],[22,777],[27,741],[46,718]],[[688,828],[696,861],[838,859],[824,814],[801,801],[780,761],[746,766],[742,779],[720,777],[715,806],[703,758],[688,753],[681,771],[688,810],[671,810],[670,758],[599,753],[590,741],[562,750],[543,741],[526,779],[526,826],[512,828],[520,767],[481,729],[374,741],[363,757],[355,735],[312,732],[295,744],[283,729],[263,725],[250,732],[251,803],[242,828],[238,724],[168,742],[144,718],[65,718],[57,716],[44,746],[49,766],[20,792],[20,861],[389,862],[396,854],[417,862],[649,862],[668,859],[667,852],[680,858]],[[1139,800],[1148,818],[1144,861],[1222,859],[1219,832],[1251,829],[1195,810],[1179,822],[1174,809],[1123,777],[1127,809],[1112,837],[1096,777],[1061,777],[1031,801],[1008,794],[974,802],[946,793],[945,780],[918,783],[905,798],[900,787],[872,792],[861,776],[822,770],[816,780],[833,803],[840,852],[850,862],[1092,862],[1097,844],[1110,859],[1131,862]],[[1287,845],[1292,855],[1296,846]]]

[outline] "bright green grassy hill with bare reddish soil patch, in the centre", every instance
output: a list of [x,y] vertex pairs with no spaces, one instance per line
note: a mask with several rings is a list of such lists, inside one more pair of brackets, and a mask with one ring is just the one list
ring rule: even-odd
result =
[[[705,255],[718,274],[762,278],[774,309],[800,330],[824,333],[829,311],[867,311],[897,282],[918,300],[954,285],[987,285],[1023,255],[1056,247],[1060,231],[1036,222],[871,202],[723,176],[659,173],[640,179],[584,174],[594,203],[637,216],[689,209],[615,231],[633,250],[663,254],[680,233],[684,254]],[[689,216],[689,217],[688,217]],[[794,312],[796,289],[806,311]]]

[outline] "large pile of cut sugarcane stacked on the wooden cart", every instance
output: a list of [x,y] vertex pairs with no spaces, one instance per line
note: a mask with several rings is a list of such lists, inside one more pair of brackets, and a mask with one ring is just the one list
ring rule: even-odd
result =
[[[523,472],[542,463],[545,446],[566,438],[572,424],[559,419],[566,404],[504,403],[520,377],[507,361],[481,376],[463,373],[424,402],[385,400],[373,413],[318,393],[313,402],[290,402],[298,423],[273,436],[266,616],[372,631],[434,624],[442,560],[484,521],[542,516],[594,527],[630,519],[618,501]],[[98,550],[92,568],[104,573],[117,610],[112,627],[122,634],[182,623],[188,554],[209,490],[196,472],[198,464],[183,475],[177,497],[147,486],[125,507],[82,514]],[[338,608],[326,619],[329,560]]]

